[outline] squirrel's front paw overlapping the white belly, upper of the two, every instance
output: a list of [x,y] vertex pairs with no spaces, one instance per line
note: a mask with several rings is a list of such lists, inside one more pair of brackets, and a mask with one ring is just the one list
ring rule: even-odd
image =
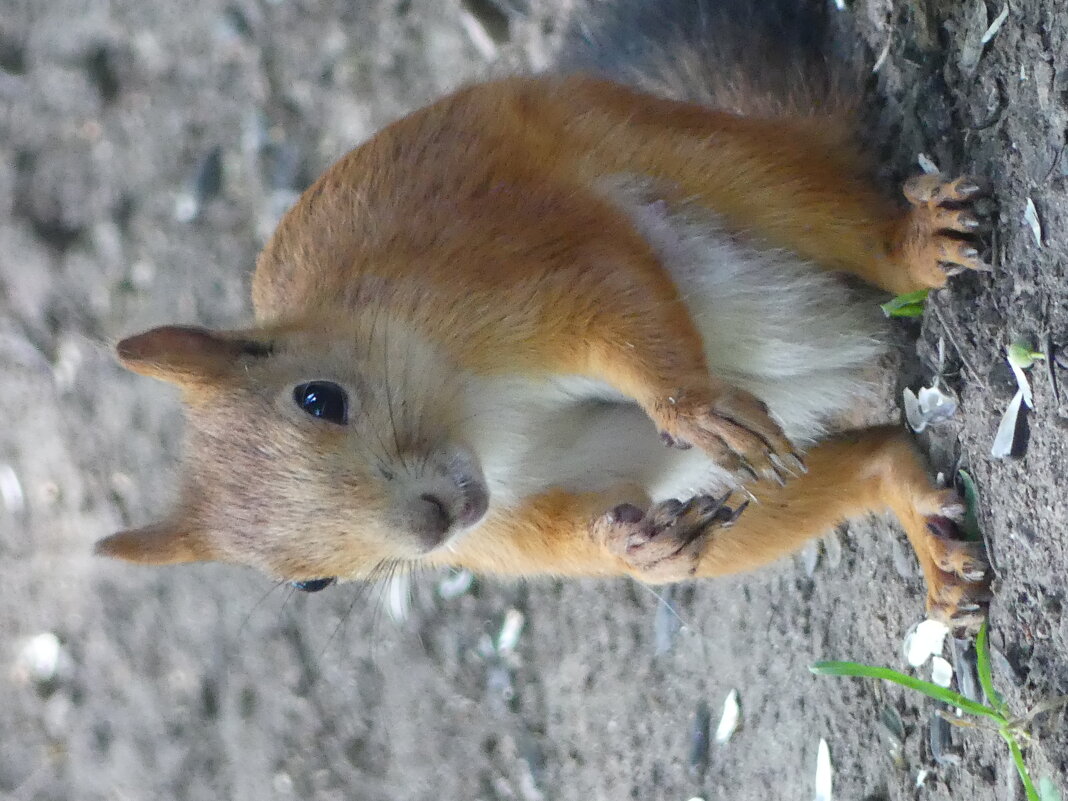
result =
[[782,484],[805,470],[767,405],[744,390],[679,391],[657,405],[655,419],[665,444],[696,445],[747,478]]

